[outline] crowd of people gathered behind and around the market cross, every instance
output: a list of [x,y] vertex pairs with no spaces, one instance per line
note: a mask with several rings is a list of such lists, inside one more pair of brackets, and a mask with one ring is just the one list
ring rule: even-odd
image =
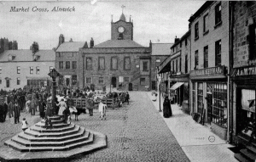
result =
[[[40,118],[44,119],[46,125],[49,125],[49,127],[51,126],[49,116],[61,115],[65,122],[68,122],[71,119],[69,108],[74,105],[72,98],[88,98],[87,105],[89,106],[86,109],[89,110],[89,115],[91,116],[95,107],[95,99],[98,99],[95,94],[95,92],[90,92],[89,87],[85,87],[84,89],[63,88],[62,91],[57,91],[57,95],[62,97],[62,99],[59,101],[58,98],[55,98],[55,102],[52,102],[51,92],[45,89],[22,90],[20,88],[9,92],[1,90],[0,122],[5,122],[7,116],[9,116],[9,119],[14,118],[14,124],[17,124],[20,123],[20,112],[25,112],[33,116],[36,115],[37,111]],[[130,95],[128,92],[108,92],[102,98],[118,98],[121,106],[125,102],[129,104]],[[106,119],[106,109],[102,110],[101,113],[102,118]],[[25,131],[27,128],[25,118],[21,121],[21,124],[22,130]]]

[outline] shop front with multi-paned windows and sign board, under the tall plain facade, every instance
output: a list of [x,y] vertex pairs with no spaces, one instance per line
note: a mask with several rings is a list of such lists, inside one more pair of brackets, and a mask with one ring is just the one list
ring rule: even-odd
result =
[[212,127],[226,140],[228,127],[228,86],[226,67],[190,71],[190,112],[194,120]]

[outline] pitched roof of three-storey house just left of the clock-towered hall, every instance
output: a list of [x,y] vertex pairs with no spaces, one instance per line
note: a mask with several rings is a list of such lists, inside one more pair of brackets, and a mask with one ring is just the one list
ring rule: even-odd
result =
[[84,46],[84,42],[63,42],[56,52],[79,52],[79,48]]

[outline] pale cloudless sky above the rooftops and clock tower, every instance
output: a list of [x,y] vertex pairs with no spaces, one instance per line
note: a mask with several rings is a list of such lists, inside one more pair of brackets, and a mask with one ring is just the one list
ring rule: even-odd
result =
[[[153,43],[172,43],[189,30],[189,17],[206,1],[196,0],[85,0],[85,1],[4,1],[0,2],[0,36],[17,41],[19,49],[38,42],[39,49],[52,49],[63,34],[65,42],[90,42],[95,45],[111,39],[111,20],[125,14],[133,21],[133,41],[148,47]],[[121,8],[124,5],[125,8]],[[28,8],[12,12],[11,8]],[[53,8],[74,8],[55,12]],[[48,12],[39,12],[46,8]]]

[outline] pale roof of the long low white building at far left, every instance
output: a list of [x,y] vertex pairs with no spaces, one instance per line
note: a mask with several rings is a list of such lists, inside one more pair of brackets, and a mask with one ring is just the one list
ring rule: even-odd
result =
[[[30,49],[19,49],[19,50],[6,50],[0,54],[0,60],[9,61],[9,55],[15,56],[13,61],[32,61],[33,53]],[[38,61],[55,61],[55,51],[51,49],[39,50],[35,53],[36,56],[40,56]]]

